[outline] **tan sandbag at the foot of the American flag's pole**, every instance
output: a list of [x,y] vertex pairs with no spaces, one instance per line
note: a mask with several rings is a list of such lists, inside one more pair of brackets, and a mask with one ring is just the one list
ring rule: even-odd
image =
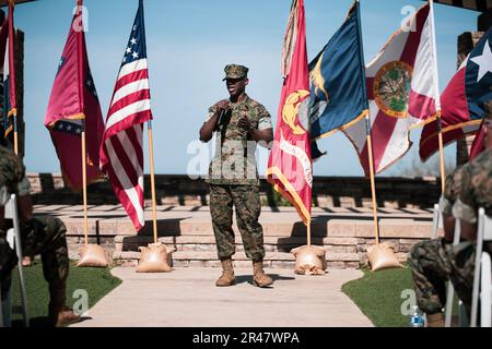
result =
[[136,268],[137,273],[167,273],[169,266],[169,256],[174,249],[167,249],[162,243],[150,243],[149,246],[140,246],[140,261]]

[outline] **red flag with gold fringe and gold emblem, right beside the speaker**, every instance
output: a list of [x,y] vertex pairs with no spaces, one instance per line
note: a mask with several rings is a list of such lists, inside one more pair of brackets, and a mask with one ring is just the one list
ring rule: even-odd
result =
[[282,52],[284,77],[267,180],[311,222],[313,164],[308,133],[309,72],[307,69],[304,0],[293,0]]

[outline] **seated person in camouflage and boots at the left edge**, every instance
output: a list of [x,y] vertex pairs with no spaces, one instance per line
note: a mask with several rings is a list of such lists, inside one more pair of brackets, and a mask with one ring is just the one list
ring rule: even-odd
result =
[[80,316],[66,306],[66,284],[69,273],[66,227],[58,218],[34,218],[30,183],[21,159],[0,146],[0,282],[2,297],[10,289],[16,255],[7,242],[11,222],[4,219],[4,205],[11,193],[17,195],[21,218],[21,241],[25,256],[40,254],[43,273],[49,285],[49,321],[54,326],[66,326],[80,321]]

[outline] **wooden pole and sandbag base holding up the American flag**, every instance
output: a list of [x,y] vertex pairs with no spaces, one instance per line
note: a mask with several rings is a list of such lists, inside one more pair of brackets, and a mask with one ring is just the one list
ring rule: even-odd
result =
[[137,273],[168,273],[172,272],[171,255],[175,251],[174,248],[168,249],[165,244],[157,240],[157,213],[155,200],[155,174],[154,174],[154,144],[152,137],[152,122],[148,123],[149,131],[149,157],[151,168],[151,192],[152,192],[152,227],[154,232],[154,242],[147,248],[140,246],[140,260],[137,265]]

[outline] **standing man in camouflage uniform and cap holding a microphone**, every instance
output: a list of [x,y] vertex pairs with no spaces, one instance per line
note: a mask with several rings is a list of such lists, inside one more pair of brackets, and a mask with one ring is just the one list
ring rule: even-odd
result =
[[[206,181],[210,184],[210,214],[218,256],[223,262],[224,270],[231,272],[231,257],[235,253],[235,237],[232,229],[233,206],[235,206],[237,227],[246,255],[258,266],[255,266],[255,270],[260,269],[258,273],[255,272],[255,275],[262,274],[265,249],[262,227],[258,222],[261,202],[255,158],[257,141],[251,136],[251,132],[254,130],[271,131],[271,117],[262,105],[244,93],[248,72],[246,67],[229,64],[224,71],[231,99],[221,100],[210,107],[206,120],[207,124],[212,118],[216,118],[213,129],[216,136],[215,156],[210,164]],[[244,82],[246,84],[243,87],[236,86],[237,83],[244,84]],[[243,88],[243,96],[235,100],[234,95],[238,94],[241,88]],[[200,136],[200,139],[204,142],[209,141],[208,137]],[[233,274],[229,273],[229,275],[230,278],[223,278],[223,282],[218,280],[216,285],[233,285]],[[271,279],[263,279],[263,281],[256,284],[263,286],[271,284]]]

